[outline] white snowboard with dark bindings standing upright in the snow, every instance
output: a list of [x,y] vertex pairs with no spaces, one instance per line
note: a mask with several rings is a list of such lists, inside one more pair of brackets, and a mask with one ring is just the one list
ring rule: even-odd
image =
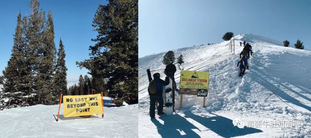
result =
[[169,78],[169,85],[165,86],[165,114],[167,116],[173,115],[173,90],[172,79]]

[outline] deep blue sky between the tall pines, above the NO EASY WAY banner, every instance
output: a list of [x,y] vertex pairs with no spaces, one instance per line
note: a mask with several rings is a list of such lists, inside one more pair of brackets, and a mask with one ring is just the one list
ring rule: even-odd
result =
[[[15,33],[18,9],[22,16],[26,16],[30,10],[28,3],[30,0],[7,0],[1,1],[0,8],[0,75],[7,66],[7,61],[11,55],[13,46],[13,35]],[[59,48],[59,38],[63,40],[66,52],[67,80],[77,80],[82,74],[87,74],[88,70],[80,70],[76,61],[83,61],[89,58],[91,41],[96,38],[97,32],[92,31],[92,21],[98,5],[107,4],[104,0],[39,0],[40,9],[46,14],[52,11],[55,32],[56,48]]]

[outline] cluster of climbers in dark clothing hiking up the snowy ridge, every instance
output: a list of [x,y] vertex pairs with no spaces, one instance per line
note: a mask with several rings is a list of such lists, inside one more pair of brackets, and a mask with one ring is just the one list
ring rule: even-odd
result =
[[[249,43],[246,43],[246,44],[245,43],[246,42],[244,41],[243,42],[244,48],[243,48],[242,52],[240,53],[241,59],[239,60],[238,64],[236,65],[236,67],[238,67],[240,64],[240,73],[239,73],[240,77],[242,77],[245,73],[245,70],[249,68],[248,67],[248,58],[250,56],[252,56],[252,53],[253,53],[252,46]],[[242,43],[240,42],[240,46],[241,45],[242,45]],[[242,57],[241,57],[241,55],[242,55]]]

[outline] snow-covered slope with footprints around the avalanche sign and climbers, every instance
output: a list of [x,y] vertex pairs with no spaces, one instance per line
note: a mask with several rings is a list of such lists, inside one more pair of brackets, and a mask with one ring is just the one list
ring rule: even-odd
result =
[[[244,40],[250,42],[254,53],[249,59],[250,70],[239,78],[235,66],[243,49],[239,42]],[[311,52],[251,34],[235,37],[235,55],[229,45],[226,41],[174,50],[176,57],[183,54],[184,70],[210,73],[206,106],[202,108],[202,97],[184,95],[179,109],[176,92],[174,115],[156,119],[149,117],[146,69],[164,79],[161,61],[166,52],[138,59],[139,137],[311,137]],[[175,81],[179,87],[179,70]],[[274,94],[264,101],[271,91],[284,102]],[[232,124],[235,118],[255,125],[239,129]],[[264,122],[266,125],[260,125]]]

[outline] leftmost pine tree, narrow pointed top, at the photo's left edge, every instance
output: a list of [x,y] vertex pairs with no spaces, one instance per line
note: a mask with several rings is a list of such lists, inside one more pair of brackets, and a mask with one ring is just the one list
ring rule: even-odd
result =
[[23,100],[22,96],[26,96],[23,85],[25,84],[24,76],[25,76],[25,38],[23,37],[23,23],[21,19],[21,11],[17,16],[17,25],[15,29],[14,36],[14,44],[12,48],[11,58],[7,63],[7,67],[5,68],[2,76],[2,81],[6,80],[3,84],[3,93],[2,99],[0,100],[2,103],[4,102],[3,98],[8,99],[10,101],[10,106],[6,105],[8,103],[4,103],[4,108],[14,108],[18,106],[27,106],[27,103],[21,103]]

